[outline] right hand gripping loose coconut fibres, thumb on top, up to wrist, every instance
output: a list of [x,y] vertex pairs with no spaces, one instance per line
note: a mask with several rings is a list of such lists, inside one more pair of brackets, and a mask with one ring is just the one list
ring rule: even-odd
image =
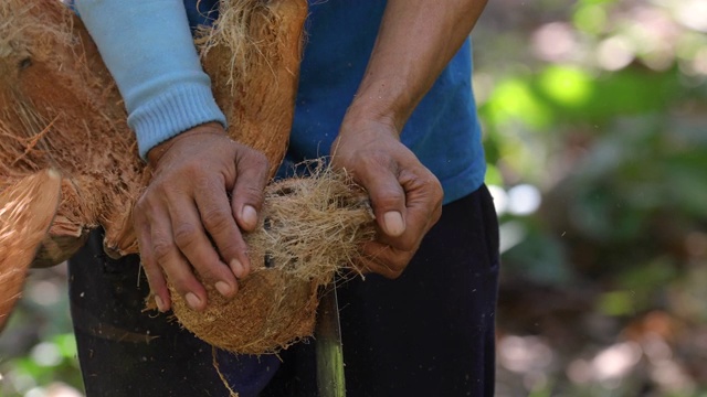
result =
[[400,142],[392,122],[354,120],[342,124],[331,154],[334,167],[368,191],[379,226],[377,239],[363,247],[361,270],[397,278],[440,219],[442,186]]

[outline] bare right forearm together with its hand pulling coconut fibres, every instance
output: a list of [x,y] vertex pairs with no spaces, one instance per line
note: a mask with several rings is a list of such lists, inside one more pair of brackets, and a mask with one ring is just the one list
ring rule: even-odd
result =
[[389,0],[361,84],[331,147],[335,167],[366,187],[379,237],[366,269],[400,276],[442,213],[440,181],[400,142],[400,131],[462,46],[486,0]]

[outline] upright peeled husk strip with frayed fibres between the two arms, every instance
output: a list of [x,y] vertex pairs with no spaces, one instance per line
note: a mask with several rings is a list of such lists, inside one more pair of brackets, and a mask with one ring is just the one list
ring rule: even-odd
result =
[[[221,0],[197,40],[231,136],[266,153],[271,176],[285,155],[304,45],[306,0]],[[247,76],[247,78],[243,78]]]

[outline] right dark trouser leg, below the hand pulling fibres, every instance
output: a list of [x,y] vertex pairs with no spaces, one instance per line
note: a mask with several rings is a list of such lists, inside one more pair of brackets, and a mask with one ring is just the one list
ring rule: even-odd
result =
[[[490,397],[498,222],[485,186],[447,204],[403,275],[338,288],[347,396]],[[316,396],[315,342],[284,352],[265,396]]]

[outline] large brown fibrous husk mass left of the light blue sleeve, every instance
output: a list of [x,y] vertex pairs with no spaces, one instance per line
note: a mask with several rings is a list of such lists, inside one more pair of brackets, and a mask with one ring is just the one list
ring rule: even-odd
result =
[[137,251],[130,211],[143,186],[118,90],[81,21],[59,1],[0,6],[0,190],[53,168],[62,202],[38,262],[73,255],[102,225],[108,246]]

